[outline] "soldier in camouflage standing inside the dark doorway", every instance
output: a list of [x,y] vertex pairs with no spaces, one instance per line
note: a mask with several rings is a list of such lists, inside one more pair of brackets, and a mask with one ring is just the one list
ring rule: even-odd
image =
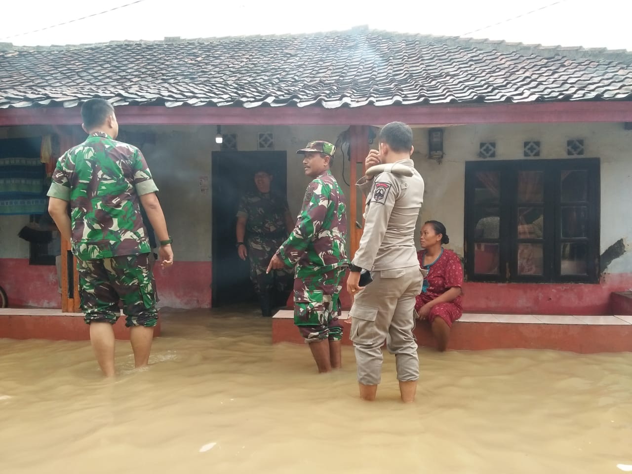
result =
[[241,198],[237,212],[237,251],[241,260],[250,260],[250,281],[261,303],[261,313],[272,316],[273,307],[285,306],[292,289],[291,269],[267,274],[267,265],[294,226],[288,203],[270,191],[272,174],[255,173],[257,191]]

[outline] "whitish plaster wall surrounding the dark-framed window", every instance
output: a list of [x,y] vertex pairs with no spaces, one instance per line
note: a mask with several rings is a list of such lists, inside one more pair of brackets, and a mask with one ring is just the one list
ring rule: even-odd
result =
[[[541,142],[541,156],[533,159],[565,159],[566,140],[583,138],[585,157],[601,161],[600,252],[621,238],[628,248],[632,244],[632,131],[622,123],[446,127],[441,164],[427,159],[427,135],[427,129],[415,129],[413,159],[426,185],[422,218],[444,222],[456,252],[463,252],[465,162],[480,160],[479,143],[487,141],[496,142],[497,160],[525,159],[523,142],[528,140]],[[632,271],[632,255],[615,260],[608,270]]]

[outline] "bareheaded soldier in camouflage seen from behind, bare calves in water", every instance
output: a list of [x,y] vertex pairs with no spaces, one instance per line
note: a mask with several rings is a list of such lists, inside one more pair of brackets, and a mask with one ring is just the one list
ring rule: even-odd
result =
[[149,361],[158,317],[152,249],[139,203],[161,243],[163,267],[173,264],[173,252],[158,188],[140,150],[115,140],[118,123],[111,104],[90,99],[82,118],[88,138],[59,158],[48,191],[49,212],[62,238],[71,241],[90,340],[101,370],[112,376],[119,301],[131,327],[136,367]]

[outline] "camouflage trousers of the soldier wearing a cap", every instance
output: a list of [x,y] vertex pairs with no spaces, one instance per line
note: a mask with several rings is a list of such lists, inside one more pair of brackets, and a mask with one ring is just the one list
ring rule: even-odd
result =
[[306,268],[296,270],[294,324],[306,343],[343,339],[339,297],[345,270],[344,267],[329,272],[313,272]]

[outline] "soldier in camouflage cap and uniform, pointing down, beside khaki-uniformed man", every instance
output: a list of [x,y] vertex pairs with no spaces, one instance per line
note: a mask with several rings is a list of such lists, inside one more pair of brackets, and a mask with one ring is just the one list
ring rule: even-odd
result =
[[305,191],[294,230],[268,267],[295,267],[294,324],[309,344],[319,372],[341,367],[339,293],[349,263],[344,195],[329,171],[335,150],[322,141],[298,150],[304,155],[305,174],[313,181]]

